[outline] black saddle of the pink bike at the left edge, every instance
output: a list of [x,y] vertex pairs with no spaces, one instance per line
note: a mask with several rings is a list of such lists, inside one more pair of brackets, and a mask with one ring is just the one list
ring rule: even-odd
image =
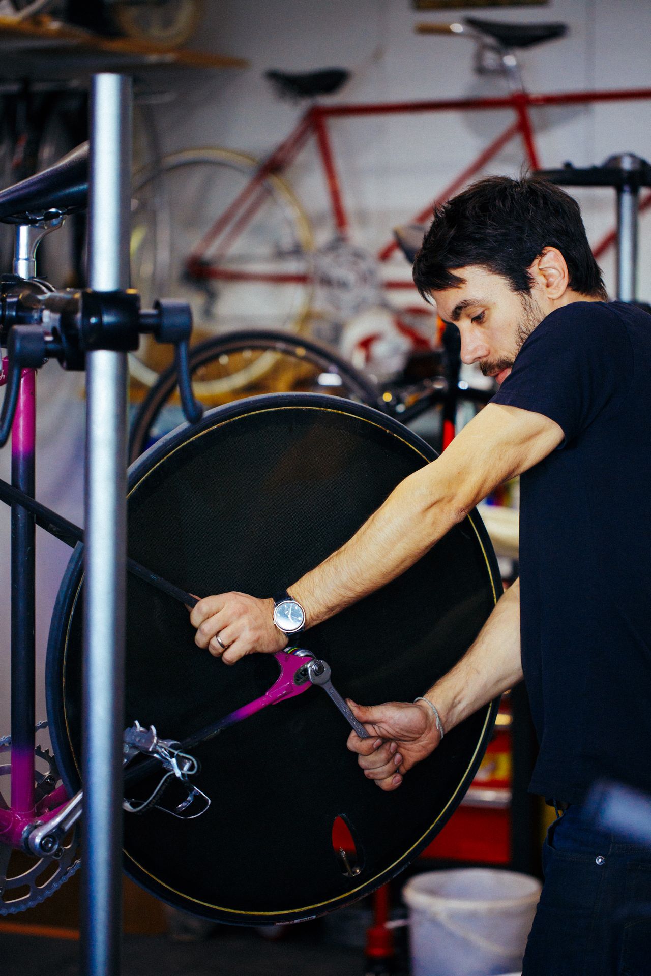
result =
[[72,149],[54,166],[0,192],[0,223],[38,224],[55,214],[86,207],[88,142]]

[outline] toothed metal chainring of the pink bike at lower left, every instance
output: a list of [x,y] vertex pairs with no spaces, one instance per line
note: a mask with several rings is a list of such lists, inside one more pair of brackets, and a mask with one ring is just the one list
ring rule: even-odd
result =
[[[45,771],[35,772],[35,797],[38,801],[60,786],[61,776],[55,757],[48,749],[36,746],[34,752],[46,767]],[[0,766],[0,777],[8,776],[10,772],[9,764]],[[8,806],[1,789],[0,804]],[[61,857],[58,858],[38,858],[0,842],[0,916],[25,912],[59,891],[61,884],[79,868],[78,849],[78,827],[64,837]]]

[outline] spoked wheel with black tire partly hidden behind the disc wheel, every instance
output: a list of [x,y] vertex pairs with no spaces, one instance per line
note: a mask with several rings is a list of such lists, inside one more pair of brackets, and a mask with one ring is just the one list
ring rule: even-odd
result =
[[[208,406],[261,392],[327,391],[377,407],[377,386],[327,346],[274,329],[230,332],[189,350],[192,389]],[[248,380],[247,380],[248,374]],[[217,388],[220,395],[206,392]],[[183,424],[175,366],[152,386],[136,411],[129,436],[135,461],[163,433]]]

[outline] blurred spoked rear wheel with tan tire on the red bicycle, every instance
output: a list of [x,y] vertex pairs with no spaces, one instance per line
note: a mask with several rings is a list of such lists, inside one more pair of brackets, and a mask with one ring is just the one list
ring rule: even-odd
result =
[[[243,327],[272,325],[297,332],[308,317],[312,231],[294,191],[276,175],[263,181],[257,218],[239,233],[242,253],[228,252],[218,273],[241,273],[235,266],[239,261],[254,268],[249,273],[260,273],[255,270],[260,267],[275,273],[280,266],[301,280],[271,289],[264,281],[224,278],[216,291],[209,277],[197,280],[187,274],[188,256],[259,167],[259,161],[246,153],[216,146],[193,148],[164,156],[134,180],[133,287],[141,293],[143,305],[163,296],[188,301],[199,341]],[[130,359],[132,378],[152,386],[169,366],[171,354],[153,342],[141,349]],[[242,378],[243,383],[249,381],[249,374]],[[219,396],[226,389],[219,383],[198,384],[195,391],[198,396]]]

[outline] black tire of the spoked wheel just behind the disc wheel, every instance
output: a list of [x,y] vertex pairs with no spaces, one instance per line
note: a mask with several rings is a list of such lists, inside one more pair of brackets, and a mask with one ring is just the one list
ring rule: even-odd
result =
[[[219,360],[224,355],[248,349],[262,349],[263,352],[296,357],[301,363],[309,363],[324,373],[338,375],[346,392],[361,403],[370,407],[383,408],[382,393],[368,377],[351,366],[341,356],[327,346],[321,346],[302,336],[286,335],[281,332],[237,332],[208,340],[200,346],[192,346],[189,354],[190,372]],[[196,389],[197,384],[193,384]],[[131,424],[129,434],[129,463],[133,463],[150,445],[152,430],[165,405],[175,396],[178,388],[177,371],[171,366],[152,386]]]

